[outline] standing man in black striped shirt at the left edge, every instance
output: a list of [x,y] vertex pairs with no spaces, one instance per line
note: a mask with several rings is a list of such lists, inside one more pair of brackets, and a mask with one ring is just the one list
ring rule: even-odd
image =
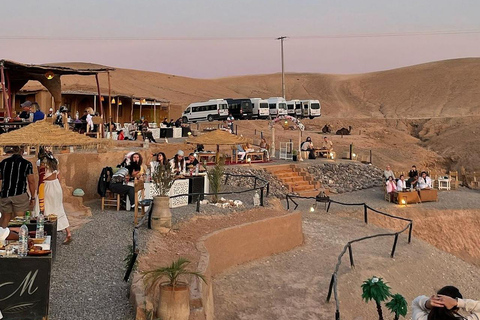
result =
[[[2,190],[0,195],[0,226],[6,228],[12,215],[23,216],[25,211],[33,207],[35,201],[35,177],[30,161],[23,159],[23,148],[10,147],[13,155],[0,162],[0,180]],[[32,197],[28,197],[28,189]]]

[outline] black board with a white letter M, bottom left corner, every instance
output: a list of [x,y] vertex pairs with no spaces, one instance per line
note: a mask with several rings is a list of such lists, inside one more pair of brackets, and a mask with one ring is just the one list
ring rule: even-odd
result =
[[5,320],[48,319],[52,258],[0,258],[0,312]]

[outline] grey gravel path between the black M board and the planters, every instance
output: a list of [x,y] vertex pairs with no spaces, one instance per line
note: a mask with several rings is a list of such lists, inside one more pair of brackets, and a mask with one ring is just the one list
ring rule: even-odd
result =
[[[132,243],[133,211],[101,212],[89,204],[93,217],[73,231],[70,245],[61,245],[53,263],[51,320],[133,319],[128,285],[123,281],[127,246]],[[143,243],[140,237],[140,243]]]

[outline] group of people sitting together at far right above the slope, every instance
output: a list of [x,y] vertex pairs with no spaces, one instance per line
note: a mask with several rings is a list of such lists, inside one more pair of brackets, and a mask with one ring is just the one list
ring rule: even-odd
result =
[[405,175],[401,174],[400,177],[395,178],[390,166],[387,166],[383,172],[383,176],[386,180],[387,193],[392,194],[398,191],[406,191],[412,189],[432,189],[432,179],[428,176],[426,171],[422,171],[420,177],[418,176],[417,167],[412,166],[412,169],[408,172],[408,179],[405,180]]

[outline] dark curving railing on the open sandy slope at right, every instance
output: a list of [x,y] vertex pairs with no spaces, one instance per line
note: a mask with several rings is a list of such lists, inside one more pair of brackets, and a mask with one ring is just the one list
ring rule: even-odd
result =
[[[314,200],[316,200],[316,197],[301,197],[301,196],[294,196],[294,195],[288,195],[287,194],[287,196],[286,196],[287,210],[290,209],[289,201],[292,201],[295,204],[294,210],[298,207],[298,203],[295,200],[293,200],[293,198],[314,199]],[[353,243],[361,242],[361,241],[369,240],[369,239],[373,239],[373,238],[379,238],[379,237],[394,237],[392,250],[390,252],[390,257],[393,258],[395,256],[395,250],[396,250],[396,247],[397,247],[398,236],[401,233],[408,230],[408,243],[411,242],[411,240],[412,240],[412,230],[413,230],[413,220],[403,218],[403,217],[398,217],[398,216],[395,216],[395,215],[392,215],[392,214],[389,214],[389,213],[379,211],[377,209],[374,209],[374,208],[368,206],[364,202],[363,203],[344,203],[344,202],[338,202],[338,201],[329,199],[328,200],[328,205],[327,205],[327,208],[326,208],[327,212],[330,210],[330,206],[331,206],[332,203],[343,205],[343,206],[363,206],[364,222],[366,224],[368,224],[368,212],[369,212],[369,210],[373,211],[375,214],[380,214],[380,215],[386,216],[388,218],[408,222],[408,224],[403,229],[401,229],[399,231],[379,233],[379,234],[374,234],[374,235],[370,235],[370,236],[365,236],[365,237],[353,239],[353,240],[350,240],[349,242],[347,242],[347,244],[343,247],[342,252],[340,253],[340,255],[337,258],[337,264],[335,265],[335,270],[332,274],[332,278],[330,280],[330,285],[329,285],[328,294],[327,294],[327,302],[330,302],[330,298],[331,298],[332,292],[333,292],[333,296],[335,298],[335,319],[340,320],[340,302],[338,300],[338,288],[337,288],[338,276],[337,276],[337,274],[338,274],[338,270],[340,268],[340,265],[342,263],[342,258],[345,255],[345,253],[347,252],[347,250],[348,250],[348,255],[349,255],[349,258],[350,258],[350,267],[355,268],[355,262],[354,262],[354,259],[353,259],[353,249],[352,249],[352,244]]]

